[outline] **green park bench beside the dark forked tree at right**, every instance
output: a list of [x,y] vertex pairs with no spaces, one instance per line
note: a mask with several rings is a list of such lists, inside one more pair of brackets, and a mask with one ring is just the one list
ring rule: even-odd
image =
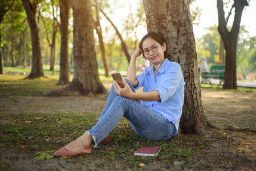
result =
[[202,72],[202,80],[201,83],[209,84],[212,85],[212,78],[216,78],[220,80],[220,84],[224,82],[224,74],[225,74],[225,65],[218,65],[218,66],[212,66],[210,67],[209,72]]

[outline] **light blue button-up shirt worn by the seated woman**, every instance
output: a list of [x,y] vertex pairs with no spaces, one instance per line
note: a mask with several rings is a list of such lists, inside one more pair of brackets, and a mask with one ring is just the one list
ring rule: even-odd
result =
[[184,103],[184,78],[178,63],[165,59],[155,77],[155,67],[145,68],[140,75],[136,75],[139,85],[135,89],[144,87],[143,92],[159,91],[160,101],[141,101],[152,111],[159,113],[166,120],[175,124],[178,133],[178,125]]

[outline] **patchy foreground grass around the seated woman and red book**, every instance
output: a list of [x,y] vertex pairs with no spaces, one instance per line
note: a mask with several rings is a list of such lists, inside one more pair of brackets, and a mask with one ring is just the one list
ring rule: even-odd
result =
[[[0,139],[2,144],[11,146],[19,152],[45,154],[47,150],[59,149],[75,140],[96,123],[96,118],[96,115],[84,112],[2,115],[0,120],[8,124],[0,125]],[[93,149],[89,159],[101,158],[100,161],[109,163],[109,166],[124,162],[123,166],[128,168],[137,168],[141,162],[191,162],[193,156],[204,153],[211,144],[209,139],[196,135],[181,135],[166,141],[141,139],[125,119],[121,120],[111,135],[112,143],[108,144],[105,150]],[[162,146],[162,150],[156,157],[134,156],[133,152],[140,146]]]

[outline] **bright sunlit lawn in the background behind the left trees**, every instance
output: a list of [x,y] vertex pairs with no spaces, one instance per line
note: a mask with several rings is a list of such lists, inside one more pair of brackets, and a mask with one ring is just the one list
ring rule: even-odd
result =
[[[59,72],[55,71],[55,75],[52,75],[52,71],[44,70],[44,76],[36,79],[25,79],[27,75],[23,75],[24,72],[30,73],[30,68],[18,68],[18,67],[5,67],[5,71],[10,72],[5,75],[0,75],[0,96],[40,96],[43,92],[50,91],[52,89],[62,88],[62,86],[56,86],[59,80]],[[74,75],[70,75],[70,81],[72,81]],[[101,82],[112,84],[112,78],[106,78],[104,75],[99,76]]]

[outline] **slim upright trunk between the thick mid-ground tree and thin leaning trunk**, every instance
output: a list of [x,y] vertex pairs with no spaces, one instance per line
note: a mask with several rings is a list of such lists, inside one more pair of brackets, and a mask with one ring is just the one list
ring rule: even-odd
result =
[[105,76],[108,77],[109,74],[109,64],[108,64],[108,58],[107,58],[107,54],[105,52],[105,46],[104,46],[104,42],[103,42],[103,36],[102,36],[102,32],[101,32],[101,26],[100,26],[100,17],[99,17],[99,2],[97,2],[97,0],[95,0],[95,6],[96,6],[96,21],[95,21],[95,30],[97,32],[97,35],[99,37],[99,43],[100,43],[100,51],[101,51],[101,59],[103,61],[104,64],[104,69],[105,69]]

